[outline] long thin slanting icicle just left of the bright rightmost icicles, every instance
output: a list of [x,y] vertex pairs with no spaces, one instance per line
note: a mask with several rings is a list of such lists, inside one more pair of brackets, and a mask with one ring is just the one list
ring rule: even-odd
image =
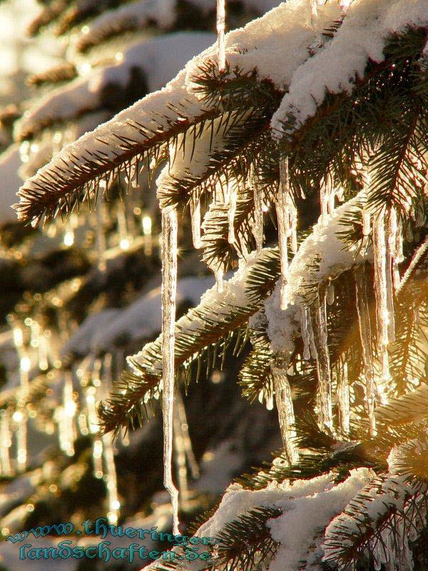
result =
[[365,405],[370,424],[370,434],[376,434],[376,420],[374,418],[374,404],[376,398],[376,383],[374,380],[372,360],[372,327],[370,323],[370,307],[367,299],[367,276],[365,266],[354,270],[355,293],[357,303],[358,325],[362,348],[362,365],[365,377]]

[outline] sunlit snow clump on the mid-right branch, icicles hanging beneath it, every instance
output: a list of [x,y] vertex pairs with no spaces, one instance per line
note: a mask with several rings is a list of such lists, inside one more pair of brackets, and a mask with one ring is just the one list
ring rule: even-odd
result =
[[272,295],[265,301],[265,314],[268,320],[267,335],[272,350],[292,353],[295,337],[300,337],[301,309],[305,307],[305,288],[312,283],[320,283],[326,278],[336,278],[355,264],[372,260],[372,250],[357,252],[356,246],[346,249],[337,236],[343,231],[342,218],[358,209],[360,194],[333,211],[325,223],[320,219],[312,228],[310,236],[302,242],[297,254],[290,263],[287,281],[288,307],[280,309],[280,280]]

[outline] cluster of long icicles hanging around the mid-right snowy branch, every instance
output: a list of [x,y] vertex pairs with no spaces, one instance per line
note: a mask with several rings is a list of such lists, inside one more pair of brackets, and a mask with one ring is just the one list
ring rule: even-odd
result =
[[[367,177],[368,180],[368,177]],[[402,280],[399,274],[399,263],[403,261],[402,253],[402,227],[397,220],[394,208],[381,211],[370,211],[367,198],[370,194],[370,181],[367,181],[365,192],[366,205],[362,208],[362,232],[364,239],[362,249],[369,247],[369,238],[372,239],[374,256],[374,291],[376,296],[376,329],[377,329],[377,356],[380,362],[380,371],[374,363],[372,355],[372,328],[370,324],[370,306],[367,295],[367,269],[365,264],[355,264],[355,293],[360,340],[362,345],[363,380],[365,383],[365,406],[370,423],[370,433],[376,433],[376,420],[374,408],[376,403],[384,403],[386,395],[385,386],[389,381],[389,355],[388,346],[394,343],[394,295],[397,295]],[[332,181],[324,181],[320,192],[320,224],[327,225],[330,215],[335,211],[335,201],[343,200],[341,189],[333,187]],[[296,213],[293,208],[290,194],[290,179],[288,175],[287,159],[280,166],[280,188],[277,198],[278,238],[280,245],[281,287],[280,309],[287,310],[289,299],[287,294],[287,276],[289,276],[289,256],[287,243],[290,239],[292,252],[296,244],[295,228]],[[295,248],[296,246],[294,246]],[[337,261],[329,260],[330,267],[335,268]],[[333,273],[333,272],[332,272]],[[403,278],[404,280],[404,278]],[[326,283],[327,282],[327,283]],[[315,359],[317,366],[317,409],[320,425],[330,430],[333,426],[332,413],[332,370],[327,345],[327,305],[335,303],[333,283],[325,279],[320,281],[315,300],[308,306],[300,306],[300,335],[303,341],[303,359]],[[294,418],[291,391],[287,381],[287,355],[277,355],[282,362],[272,366],[276,404],[282,438],[288,458],[296,458],[293,448],[292,420]],[[350,387],[347,384],[347,367],[343,367],[342,375],[337,378],[337,402],[339,408],[340,430],[347,433],[350,426]],[[280,396],[281,395],[281,396]]]

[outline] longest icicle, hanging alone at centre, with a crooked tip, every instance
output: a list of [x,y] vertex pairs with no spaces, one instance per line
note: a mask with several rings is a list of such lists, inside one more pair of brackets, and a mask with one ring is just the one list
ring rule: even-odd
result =
[[163,356],[163,483],[173,507],[173,533],[178,529],[178,490],[173,483],[174,325],[177,291],[177,212],[162,211],[162,356]]

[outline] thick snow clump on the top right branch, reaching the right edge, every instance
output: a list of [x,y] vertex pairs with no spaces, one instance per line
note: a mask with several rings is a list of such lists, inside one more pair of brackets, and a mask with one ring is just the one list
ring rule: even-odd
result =
[[367,63],[384,59],[387,38],[407,26],[427,26],[424,0],[354,0],[332,41],[307,59],[290,78],[289,88],[272,117],[274,132],[292,116],[297,128],[315,114],[327,92],[350,92]]

